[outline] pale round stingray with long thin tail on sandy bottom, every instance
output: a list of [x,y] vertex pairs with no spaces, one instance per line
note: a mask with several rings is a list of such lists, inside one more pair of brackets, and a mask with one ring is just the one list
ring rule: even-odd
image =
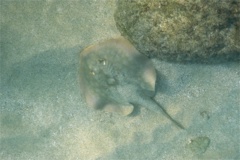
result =
[[134,107],[144,106],[183,129],[154,99],[157,75],[153,64],[124,38],[84,49],[79,71],[81,91],[91,108],[130,115]]

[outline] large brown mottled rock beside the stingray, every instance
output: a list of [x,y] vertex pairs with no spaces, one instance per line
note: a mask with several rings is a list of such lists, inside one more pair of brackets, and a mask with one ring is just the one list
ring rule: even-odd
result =
[[240,1],[119,0],[114,17],[121,34],[148,57],[240,60]]

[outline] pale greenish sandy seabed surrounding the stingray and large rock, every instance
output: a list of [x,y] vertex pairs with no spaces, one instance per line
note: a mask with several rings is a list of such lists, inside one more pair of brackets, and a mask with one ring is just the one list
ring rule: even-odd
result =
[[185,130],[139,107],[89,108],[79,53],[118,37],[114,0],[1,1],[1,160],[240,159],[240,66],[152,60],[155,96]]

